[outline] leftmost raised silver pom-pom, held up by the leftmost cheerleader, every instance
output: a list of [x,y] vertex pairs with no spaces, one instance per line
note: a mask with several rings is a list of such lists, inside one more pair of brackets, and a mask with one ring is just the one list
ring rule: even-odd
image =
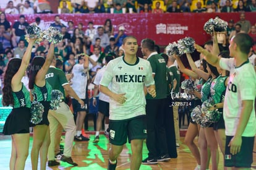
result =
[[35,43],[37,44],[40,44],[40,42],[43,41],[43,38],[41,37],[42,31],[37,25],[28,25],[28,27],[25,29],[25,32],[25,40],[29,41],[30,38],[36,38]]

